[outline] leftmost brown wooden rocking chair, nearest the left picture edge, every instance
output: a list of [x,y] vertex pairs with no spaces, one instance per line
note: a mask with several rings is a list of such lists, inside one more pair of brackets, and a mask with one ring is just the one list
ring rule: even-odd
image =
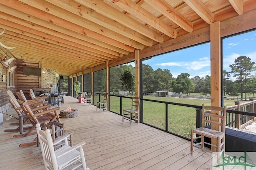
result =
[[23,131],[26,131],[28,129],[30,129],[30,127],[25,127],[23,128],[23,125],[30,123],[30,121],[28,120],[28,117],[26,116],[26,114],[22,111],[22,108],[20,107],[20,105],[17,102],[16,97],[14,96],[14,94],[12,93],[12,91],[8,90],[7,94],[9,95],[10,99],[9,102],[12,105],[12,107],[14,108],[14,110],[16,111],[16,113],[18,114],[19,117],[19,123],[11,123],[10,125],[19,125],[16,129],[5,129],[5,132],[20,132],[20,134],[23,133]]

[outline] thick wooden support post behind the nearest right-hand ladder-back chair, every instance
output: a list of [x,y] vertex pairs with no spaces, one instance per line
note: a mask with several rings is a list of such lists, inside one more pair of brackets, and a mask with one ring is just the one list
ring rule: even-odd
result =
[[[221,106],[221,53],[220,53],[220,21],[216,21],[210,25],[210,46],[211,46],[211,106]],[[215,113],[214,110],[211,111]],[[215,114],[219,114],[216,111]],[[217,120],[213,121],[218,121]],[[211,125],[211,129],[219,130],[217,125]],[[216,145],[217,140],[212,140],[212,144]],[[212,151],[217,151],[215,147],[211,147]]]

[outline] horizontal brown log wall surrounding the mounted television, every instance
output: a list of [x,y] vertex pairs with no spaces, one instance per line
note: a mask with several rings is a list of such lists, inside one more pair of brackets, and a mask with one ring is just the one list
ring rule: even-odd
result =
[[16,68],[16,88],[17,91],[22,90],[27,99],[29,97],[29,89],[30,88],[40,88],[41,87],[41,77],[40,76],[25,76],[23,75],[23,66],[33,66],[41,68],[41,64],[34,61],[27,61],[22,59],[16,60],[17,68]]

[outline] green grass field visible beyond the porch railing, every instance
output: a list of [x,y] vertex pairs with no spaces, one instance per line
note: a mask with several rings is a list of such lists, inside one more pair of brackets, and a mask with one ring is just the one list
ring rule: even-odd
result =
[[[191,104],[196,106],[202,106],[202,103],[204,103],[206,106],[210,106],[210,100],[202,99],[166,98],[155,96],[144,96],[143,98],[180,104]],[[130,98],[122,98],[122,108],[130,108],[131,101],[132,100]],[[234,105],[234,101],[235,100],[224,100],[224,105],[232,106]],[[241,103],[243,103],[243,101],[241,101]],[[158,127],[160,129],[165,129],[165,109],[165,104],[143,101],[143,122]],[[121,114],[120,97],[110,96],[110,111]],[[190,138],[191,129],[194,128],[196,128],[195,108],[176,106],[171,104],[168,105],[168,131]]]

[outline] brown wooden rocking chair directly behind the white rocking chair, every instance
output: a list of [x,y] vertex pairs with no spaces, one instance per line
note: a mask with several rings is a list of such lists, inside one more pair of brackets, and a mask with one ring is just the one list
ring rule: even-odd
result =
[[[19,92],[16,92],[16,93],[18,95],[20,95]],[[40,107],[35,107],[32,110],[27,102],[24,102],[20,99],[18,99],[17,102],[20,104],[20,107],[22,108],[24,113],[27,115],[28,119],[30,120],[30,122],[32,123],[33,126],[26,134],[14,135],[14,137],[21,137],[21,136],[25,137],[28,135],[35,134],[35,133],[32,133],[32,131],[35,129],[36,123],[44,123],[46,121],[53,122],[54,120],[57,120],[59,123],[61,123],[60,117],[57,112],[57,110],[59,110],[60,107],[54,107],[54,108],[50,108],[50,109],[46,110],[45,107],[47,107],[47,106],[40,106]],[[34,101],[34,102],[36,103],[38,101]],[[31,105],[33,105],[33,104],[31,103]],[[37,110],[42,110],[42,109],[45,109],[45,110],[41,111],[41,112],[37,111]],[[30,146],[30,145],[35,145],[35,144],[36,144],[36,142],[33,142],[33,143],[21,144],[20,146],[21,147],[22,146]]]

